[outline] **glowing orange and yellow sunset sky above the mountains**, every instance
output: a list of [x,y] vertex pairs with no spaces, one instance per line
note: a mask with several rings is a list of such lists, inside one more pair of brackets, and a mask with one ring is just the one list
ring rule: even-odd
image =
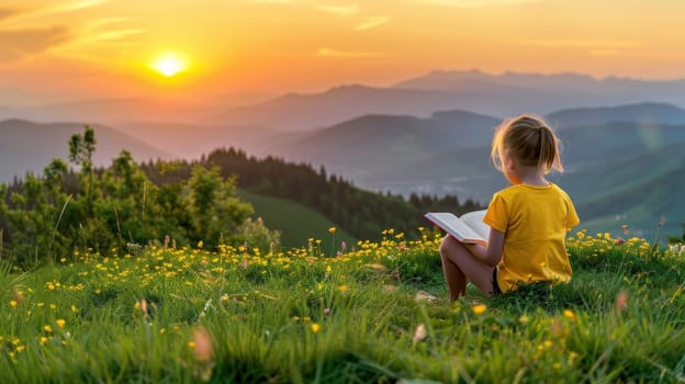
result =
[[4,0],[0,89],[277,93],[474,68],[675,79],[684,14],[682,0]]

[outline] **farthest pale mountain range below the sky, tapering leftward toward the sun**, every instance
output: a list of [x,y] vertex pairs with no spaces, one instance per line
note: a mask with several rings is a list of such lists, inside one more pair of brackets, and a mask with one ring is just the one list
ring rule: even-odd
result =
[[207,116],[205,122],[311,131],[367,114],[427,117],[436,111],[465,110],[504,117],[526,112],[550,114],[562,109],[645,101],[685,105],[683,89],[685,80],[595,79],[579,74],[433,71],[389,88],[356,84],[316,93],[289,93],[262,103],[225,110]]

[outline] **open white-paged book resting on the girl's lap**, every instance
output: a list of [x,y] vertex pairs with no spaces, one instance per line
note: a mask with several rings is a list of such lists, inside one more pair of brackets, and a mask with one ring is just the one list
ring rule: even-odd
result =
[[473,211],[460,217],[449,212],[429,212],[424,217],[461,242],[486,245],[490,226],[483,223],[485,212],[485,210]]

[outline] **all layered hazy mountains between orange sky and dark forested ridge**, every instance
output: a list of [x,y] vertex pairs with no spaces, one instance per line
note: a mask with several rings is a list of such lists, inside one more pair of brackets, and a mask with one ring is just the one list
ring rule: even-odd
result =
[[486,203],[506,184],[489,162],[494,128],[503,116],[535,112],[564,142],[568,172],[554,180],[577,201],[584,226],[615,229],[607,227],[619,227],[618,216],[649,230],[666,215],[677,233],[685,223],[675,194],[685,185],[684,105],[685,80],[480,71],[434,71],[388,88],[336,87],[240,106],[231,98],[0,105],[0,120],[72,122],[1,122],[0,178],[66,158],[68,137],[89,123],[100,165],[123,148],[143,160],[235,146],[324,165],[362,188]]

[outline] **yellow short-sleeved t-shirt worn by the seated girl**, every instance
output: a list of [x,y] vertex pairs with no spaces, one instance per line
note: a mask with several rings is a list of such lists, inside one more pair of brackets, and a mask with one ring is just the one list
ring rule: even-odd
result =
[[518,282],[566,282],[571,263],[566,231],[580,223],[569,195],[555,184],[518,184],[493,195],[483,218],[505,234],[497,284],[502,292]]

